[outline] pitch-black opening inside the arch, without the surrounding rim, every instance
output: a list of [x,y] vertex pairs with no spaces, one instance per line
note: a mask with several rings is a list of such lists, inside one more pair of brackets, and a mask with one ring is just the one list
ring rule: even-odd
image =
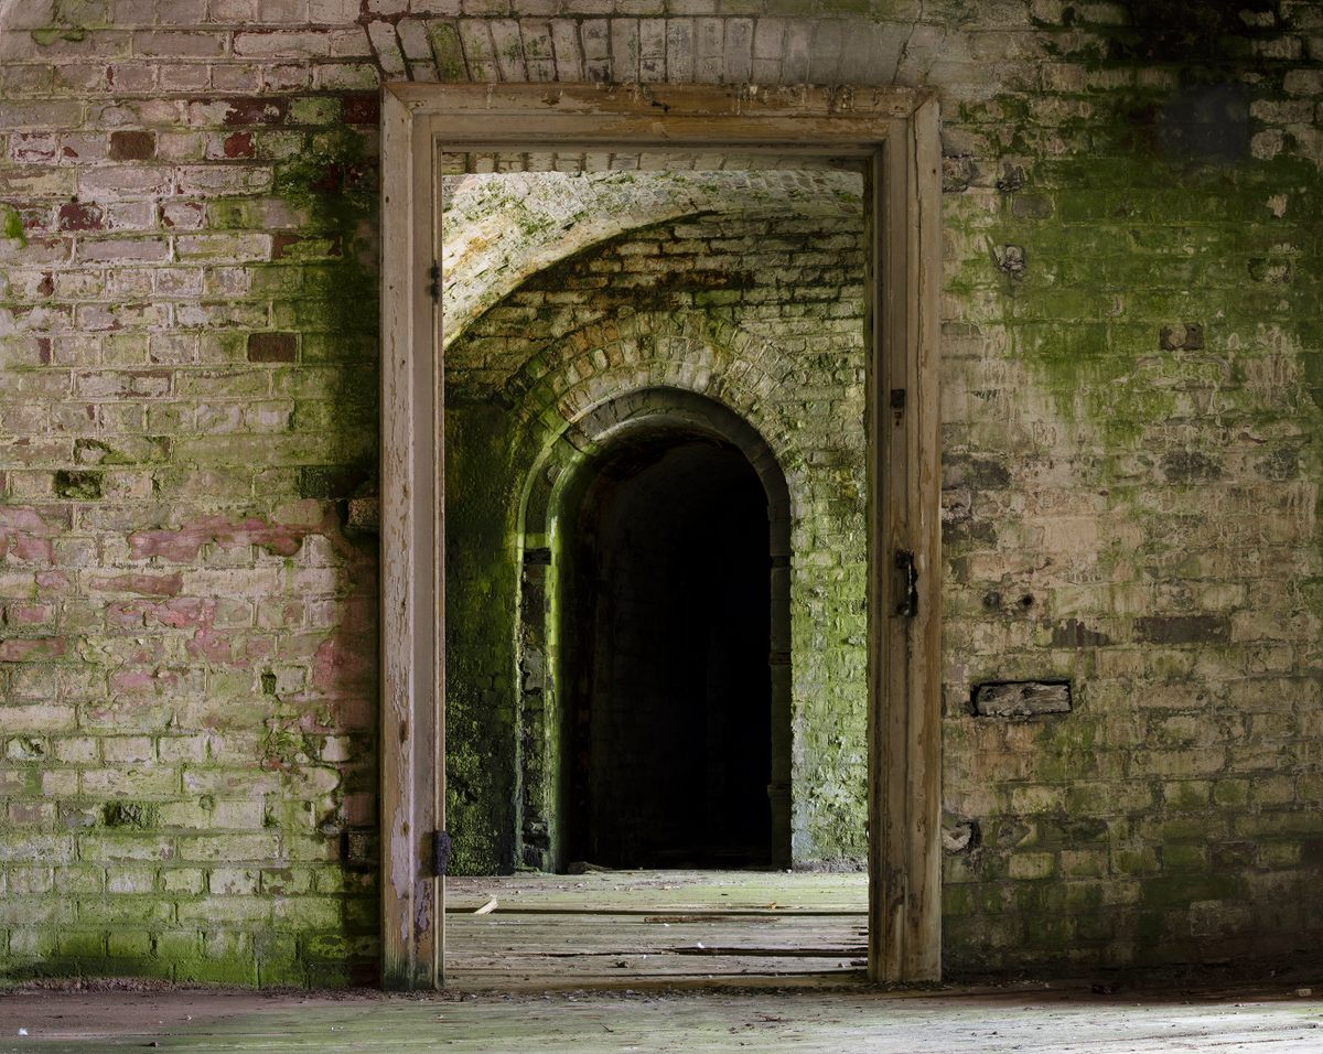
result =
[[654,431],[587,485],[572,555],[569,860],[774,858],[767,495],[734,446]]

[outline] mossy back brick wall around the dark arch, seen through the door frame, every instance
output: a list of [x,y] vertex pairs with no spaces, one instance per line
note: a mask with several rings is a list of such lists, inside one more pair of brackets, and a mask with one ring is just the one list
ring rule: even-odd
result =
[[[536,274],[447,352],[447,821],[456,866],[487,873],[529,862],[513,837],[527,820],[513,815],[515,788],[536,767],[527,755],[553,750],[554,726],[569,719],[546,718],[545,746],[516,741],[524,722],[513,598],[523,550],[542,545],[525,538],[529,480],[558,464],[546,454],[556,443],[570,462],[561,471],[573,471],[581,455],[572,422],[640,387],[699,393],[734,410],[763,434],[787,477],[790,858],[800,868],[864,866],[863,180],[726,171],[598,181],[630,182],[663,210],[667,197],[705,188],[713,212],[635,229]],[[785,212],[792,201],[750,212],[750,182],[799,188],[808,212]],[[573,509],[557,518],[569,522],[553,524],[546,540],[553,575],[562,573]],[[771,745],[749,745],[759,747]],[[554,784],[556,772],[546,779]]]

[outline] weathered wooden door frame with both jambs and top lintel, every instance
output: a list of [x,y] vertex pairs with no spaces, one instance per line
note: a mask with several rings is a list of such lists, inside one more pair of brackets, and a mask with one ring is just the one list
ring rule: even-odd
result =
[[[905,87],[388,85],[381,196],[381,979],[445,983],[437,155],[566,144],[869,161],[868,973],[941,977],[941,145]],[[913,570],[912,570],[913,569]]]

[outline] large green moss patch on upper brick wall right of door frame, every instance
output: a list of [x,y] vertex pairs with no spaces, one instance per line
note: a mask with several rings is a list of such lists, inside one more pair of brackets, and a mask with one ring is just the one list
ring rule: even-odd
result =
[[[1226,69],[1217,75],[1234,82]],[[968,245],[1023,247],[1023,270],[1007,274],[994,253],[967,251],[949,286],[988,305],[987,323],[1004,325],[1060,418],[1094,430],[1109,450],[1143,447],[1155,423],[1189,413],[1192,389],[1216,387],[1222,406],[1248,402],[1226,373],[1244,376],[1253,337],[1232,350],[1230,335],[1273,320],[1297,332],[1298,346],[1316,346],[1299,321],[1314,315],[1316,283],[1302,278],[1295,246],[1310,243],[1323,180],[1299,159],[1253,157],[1248,123],[1238,138],[1222,135],[1236,123],[1228,114],[1245,104],[1238,89],[1215,87],[1208,98],[1221,108],[1207,114],[1212,103],[1183,87],[1084,93],[1081,115],[1053,130],[1050,157],[1021,99],[962,107],[991,138],[992,156],[1039,160],[998,182],[994,213],[966,213],[959,196],[947,210]],[[1271,194],[1289,198],[1285,216],[1269,210]],[[1054,208],[1023,208],[1031,200]],[[1163,328],[1185,323],[1203,327],[1207,346],[1164,348]],[[1323,405],[1323,366],[1310,357],[1303,365]]]

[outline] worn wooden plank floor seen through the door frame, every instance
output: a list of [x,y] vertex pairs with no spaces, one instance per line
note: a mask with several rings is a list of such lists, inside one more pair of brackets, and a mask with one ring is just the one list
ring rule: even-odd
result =
[[[476,914],[480,909],[487,910]],[[867,926],[864,874],[451,878],[446,980],[475,991],[759,980],[855,984],[867,965]]]

